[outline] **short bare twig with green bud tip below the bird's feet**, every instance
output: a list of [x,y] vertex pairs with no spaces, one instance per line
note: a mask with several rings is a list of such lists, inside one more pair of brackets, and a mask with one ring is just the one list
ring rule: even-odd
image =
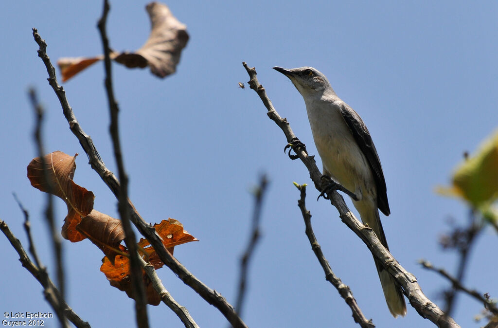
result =
[[353,292],[351,292],[349,286],[344,285],[341,279],[334,274],[332,268],[330,267],[329,261],[327,261],[323,255],[322,248],[320,247],[320,244],[315,237],[315,233],[313,232],[313,226],[311,225],[311,213],[306,209],[306,184],[299,185],[296,183],[295,185],[301,191],[301,197],[297,201],[297,206],[299,206],[301,214],[303,215],[304,225],[306,226],[306,236],[308,236],[311,249],[315,253],[318,262],[320,262],[320,265],[325,272],[325,279],[337,289],[339,295],[341,295],[341,297],[346,301],[346,304],[351,308],[355,322],[362,328],[374,328],[375,325],[373,325],[372,319],[367,320],[367,318],[363,315],[362,309],[360,309],[360,306],[356,302]]

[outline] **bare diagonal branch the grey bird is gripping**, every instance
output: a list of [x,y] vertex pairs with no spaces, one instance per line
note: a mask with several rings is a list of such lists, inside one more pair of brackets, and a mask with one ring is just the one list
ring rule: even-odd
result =
[[[256,70],[243,62],[246,71],[249,74],[249,87],[256,91],[259,98],[268,110],[268,117],[273,120],[285,134],[287,142],[292,142],[292,139],[296,136],[292,132],[289,123],[286,119],[282,119],[280,115],[276,112],[273,104],[266,95],[266,91],[263,86],[259,84],[256,78]],[[320,190],[321,186],[321,176],[320,170],[315,163],[313,156],[308,156],[306,151],[302,148],[297,149],[297,156],[306,165],[311,179],[315,183],[315,187]],[[362,239],[362,241],[367,245],[369,250],[372,252],[375,258],[379,259],[384,268],[391,274],[394,279],[403,288],[403,293],[408,297],[412,307],[423,317],[429,319],[431,322],[436,324],[438,327],[460,327],[455,321],[446,317],[444,312],[439,309],[439,307],[429,300],[422,292],[421,287],[417,283],[417,279],[414,275],[406,271],[391,253],[380,243],[377,236],[370,227],[365,226],[361,223],[354,214],[349,210],[348,206],[344,202],[343,197],[336,191],[332,192],[330,196],[330,202],[339,211],[339,217],[341,220],[351,229],[353,232]]]

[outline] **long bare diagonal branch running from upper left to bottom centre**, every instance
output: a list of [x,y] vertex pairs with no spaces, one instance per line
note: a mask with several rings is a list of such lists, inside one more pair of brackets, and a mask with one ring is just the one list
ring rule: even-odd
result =
[[[69,105],[69,102],[66,98],[66,92],[64,91],[64,88],[57,83],[55,69],[50,62],[50,58],[48,57],[46,52],[47,44],[40,37],[36,28],[33,28],[33,37],[35,42],[39,46],[38,56],[42,59],[48,72],[48,83],[59,99],[64,117],[69,123],[69,129],[76,136],[76,138],[80,142],[81,147],[87,154],[91,167],[99,174],[99,176],[107,184],[109,189],[111,189],[114,195],[118,197],[120,182],[116,178],[116,175],[114,175],[114,173],[106,167],[92,141],[92,138],[90,138],[90,136],[87,135],[85,131],[83,131],[78,120],[76,119],[73,109]],[[230,305],[230,303],[228,303],[221,294],[212,290],[200,280],[198,280],[166,250],[154,227],[145,222],[140,214],[138,214],[138,211],[135,209],[133,203],[129,199],[127,199],[127,206],[128,210],[131,212],[131,221],[137,227],[138,231],[140,231],[140,233],[149,241],[150,245],[154,248],[157,255],[159,256],[159,259],[187,286],[192,288],[206,302],[216,307],[225,316],[225,318],[227,318],[228,322],[232,326],[247,327],[242,319],[237,315],[232,305]]]

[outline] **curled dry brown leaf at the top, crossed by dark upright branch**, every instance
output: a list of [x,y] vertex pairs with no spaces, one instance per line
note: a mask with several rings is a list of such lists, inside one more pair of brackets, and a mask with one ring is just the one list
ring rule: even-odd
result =
[[[171,13],[168,6],[151,2],[145,6],[151,22],[151,31],[145,44],[134,52],[112,52],[111,59],[128,68],[150,67],[152,74],[166,77],[176,71],[182,49],[189,39],[185,24]],[[57,61],[65,82],[71,77],[104,59],[96,57],[61,58]]]

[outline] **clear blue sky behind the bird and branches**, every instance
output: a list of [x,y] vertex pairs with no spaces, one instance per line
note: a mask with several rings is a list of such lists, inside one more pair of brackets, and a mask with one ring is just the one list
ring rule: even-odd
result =
[[[139,48],[149,34],[146,1],[112,1],[111,46]],[[305,166],[283,153],[281,130],[266,116],[256,93],[238,87],[255,66],[273,105],[294,133],[317,154],[302,97],[273,66],[313,66],[363,118],[373,136],[391,208],[382,216],[390,249],[443,305],[448,282],[417,264],[425,258],[454,273],[456,256],[438,244],[448,218],[464,224],[467,208],[434,193],[448,184],[464,151],[475,151],[497,124],[496,1],[171,1],[190,40],[177,73],[164,79],[147,70],[113,65],[121,113],[130,198],[145,220],[180,220],[199,242],[175,249],[194,275],[231,303],[239,258],[249,238],[251,190],[266,173],[270,185],[261,218],[262,238],[250,267],[244,319],[249,327],[358,327],[337,291],[325,281],[304,234],[292,185],[311,183]],[[30,212],[38,252],[54,277],[43,219],[45,195],[30,186],[26,165],[36,156],[28,86],[46,109],[47,152],[79,153],[75,182],[92,190],[95,209],[118,217],[117,201],[87,158],[62,115],[37,57],[36,27],[55,63],[60,57],[102,53],[96,28],[101,1],[1,1],[3,50],[0,88],[0,218],[27,248],[16,192]],[[98,63],[64,84],[76,117],[107,166],[117,172],[108,133],[109,114]],[[317,162],[321,167],[317,156]],[[377,327],[434,327],[408,306],[393,319],[372,256],[327,201],[307,206],[317,238],[334,272],[349,285]],[[348,204],[351,204],[348,200]],[[66,206],[56,199],[62,226]],[[498,297],[497,235],[487,229],[472,252],[466,285]],[[92,327],[131,327],[133,301],[99,271],[103,253],[90,241],[64,241],[67,301]],[[52,312],[37,281],[0,236],[0,313]],[[224,317],[164,267],[165,287],[201,327],[226,327]],[[482,305],[460,296],[454,318],[480,327]],[[149,307],[151,327],[183,327],[164,305]],[[3,319],[3,318],[2,318]],[[55,319],[47,327],[58,326]]]

